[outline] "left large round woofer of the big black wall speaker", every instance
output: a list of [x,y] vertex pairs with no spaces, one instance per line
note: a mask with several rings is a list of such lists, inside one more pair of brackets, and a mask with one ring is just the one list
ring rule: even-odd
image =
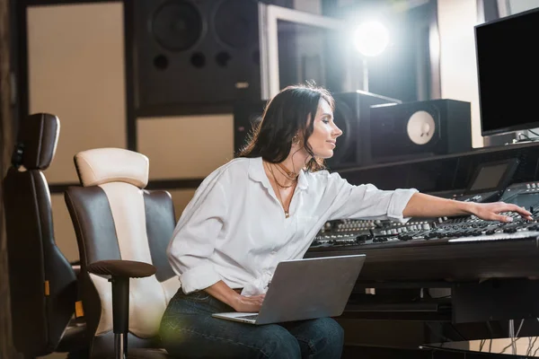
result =
[[155,12],[151,29],[163,48],[184,51],[199,40],[202,17],[199,10],[187,1],[168,1]]

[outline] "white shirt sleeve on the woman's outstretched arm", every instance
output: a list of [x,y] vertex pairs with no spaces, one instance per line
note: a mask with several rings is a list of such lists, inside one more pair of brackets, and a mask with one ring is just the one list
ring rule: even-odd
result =
[[372,184],[353,186],[338,173],[331,173],[328,180],[328,195],[334,198],[330,219],[391,219],[401,223],[410,219],[402,211],[418,192],[415,188],[382,190]]

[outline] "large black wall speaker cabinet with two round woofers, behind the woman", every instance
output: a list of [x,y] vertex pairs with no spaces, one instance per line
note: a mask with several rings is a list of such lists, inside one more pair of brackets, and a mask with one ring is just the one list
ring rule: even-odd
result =
[[137,116],[232,112],[261,99],[255,0],[137,0]]

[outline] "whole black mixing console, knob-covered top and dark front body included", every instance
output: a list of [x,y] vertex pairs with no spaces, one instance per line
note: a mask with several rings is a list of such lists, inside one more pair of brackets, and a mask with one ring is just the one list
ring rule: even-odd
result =
[[[482,193],[470,196],[455,191],[439,197],[490,202],[490,192],[476,197]],[[483,221],[473,215],[412,218],[407,223],[331,221],[325,223],[305,258],[365,255],[358,288],[451,287],[454,320],[508,318],[508,312],[511,318],[528,318],[520,311],[531,312],[529,308],[536,305],[533,299],[531,303],[522,300],[535,298],[534,291],[539,290],[535,280],[539,278],[539,183],[517,183],[494,197],[526,207],[533,219],[507,213],[513,218],[511,223]],[[485,306],[494,300],[497,304]]]

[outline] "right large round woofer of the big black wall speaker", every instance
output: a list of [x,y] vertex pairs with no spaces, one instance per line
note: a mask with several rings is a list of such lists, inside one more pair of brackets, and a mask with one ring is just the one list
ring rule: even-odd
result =
[[214,15],[216,38],[230,48],[246,48],[258,40],[258,5],[252,1],[223,0]]

